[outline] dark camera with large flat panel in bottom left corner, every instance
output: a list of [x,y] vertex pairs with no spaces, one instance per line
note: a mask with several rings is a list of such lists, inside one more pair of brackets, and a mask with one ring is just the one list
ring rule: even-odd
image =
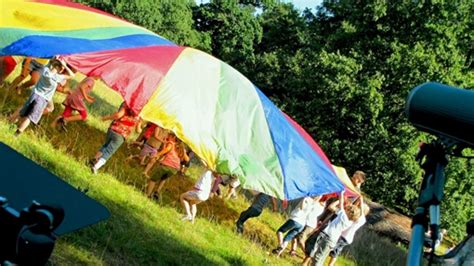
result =
[[102,204],[1,142],[0,154],[0,265],[44,265],[57,237],[110,216]]

